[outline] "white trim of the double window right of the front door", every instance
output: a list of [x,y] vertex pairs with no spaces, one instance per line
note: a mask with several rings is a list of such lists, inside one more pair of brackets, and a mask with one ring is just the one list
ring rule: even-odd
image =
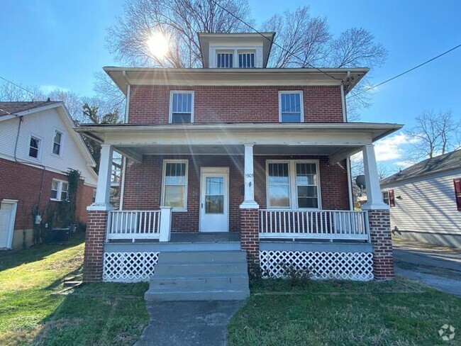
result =
[[[270,163],[287,163],[288,164],[288,177],[289,177],[289,207],[271,207],[269,200],[269,164]],[[298,191],[296,189],[296,164],[297,163],[315,163],[317,174],[317,194],[318,194],[318,208],[297,208],[298,205]],[[321,210],[322,209],[322,191],[320,182],[320,161],[319,160],[266,160],[266,206],[267,209],[295,209],[295,210]],[[296,208],[295,208],[296,206]]]

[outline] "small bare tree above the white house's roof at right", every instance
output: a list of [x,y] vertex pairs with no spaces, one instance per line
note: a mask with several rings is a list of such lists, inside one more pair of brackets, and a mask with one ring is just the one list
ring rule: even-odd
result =
[[416,116],[416,126],[406,133],[413,139],[405,157],[408,162],[416,163],[461,147],[461,121],[453,118],[451,110],[423,111]]

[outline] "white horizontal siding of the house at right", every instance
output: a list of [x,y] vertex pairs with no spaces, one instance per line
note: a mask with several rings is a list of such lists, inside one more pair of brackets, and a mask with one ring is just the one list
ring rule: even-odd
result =
[[453,241],[457,241],[456,246],[461,246],[461,212],[457,211],[453,185],[456,178],[461,178],[461,169],[383,185],[382,191],[394,190],[391,229],[413,233],[419,240],[443,245],[456,245]]

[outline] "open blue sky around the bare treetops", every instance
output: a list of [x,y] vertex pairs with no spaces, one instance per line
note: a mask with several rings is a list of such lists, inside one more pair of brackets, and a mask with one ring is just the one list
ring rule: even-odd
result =
[[[372,32],[389,50],[382,82],[461,43],[461,1],[280,1],[249,0],[257,22],[308,4],[326,16],[333,35],[352,26]],[[0,76],[43,89],[91,94],[94,72],[117,65],[105,48],[106,28],[123,14],[122,0],[2,0]],[[374,91],[362,121],[405,123],[423,109],[448,109],[461,118],[461,48]],[[387,163],[401,161],[406,138],[392,137],[379,149]],[[387,153],[389,155],[387,155]]]

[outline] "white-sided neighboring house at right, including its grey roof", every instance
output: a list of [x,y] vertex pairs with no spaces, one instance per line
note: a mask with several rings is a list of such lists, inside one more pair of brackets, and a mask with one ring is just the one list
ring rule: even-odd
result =
[[461,150],[404,169],[381,189],[394,236],[461,247]]

